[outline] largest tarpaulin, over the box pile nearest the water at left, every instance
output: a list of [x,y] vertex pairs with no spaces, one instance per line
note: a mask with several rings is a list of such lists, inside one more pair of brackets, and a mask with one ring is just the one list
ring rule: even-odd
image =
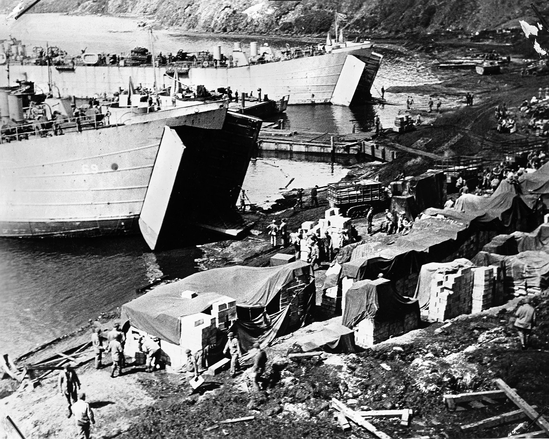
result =
[[[237,265],[202,271],[157,287],[122,305],[122,320],[155,337],[179,344],[181,317],[203,312],[223,295],[236,299],[240,307],[265,307],[285,284],[294,280],[295,272],[309,270],[309,264],[295,261],[276,267]],[[185,290],[195,291],[198,296],[182,298],[181,292]]]

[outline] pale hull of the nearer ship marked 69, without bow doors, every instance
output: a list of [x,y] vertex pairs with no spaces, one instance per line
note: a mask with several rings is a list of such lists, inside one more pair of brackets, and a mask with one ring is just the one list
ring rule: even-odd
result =
[[165,114],[148,122],[2,144],[0,236],[138,231],[164,127],[222,132],[227,107],[217,101]]

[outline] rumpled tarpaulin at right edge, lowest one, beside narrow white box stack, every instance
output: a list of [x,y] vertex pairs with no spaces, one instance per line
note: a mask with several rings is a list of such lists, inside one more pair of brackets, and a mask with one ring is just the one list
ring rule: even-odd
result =
[[528,250],[511,256],[479,252],[472,262],[485,266],[503,264],[506,280],[512,280],[516,287],[549,287],[549,254],[545,252]]

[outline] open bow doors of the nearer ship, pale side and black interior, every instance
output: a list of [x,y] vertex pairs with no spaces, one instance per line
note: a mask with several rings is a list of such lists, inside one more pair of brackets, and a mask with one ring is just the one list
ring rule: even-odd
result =
[[152,250],[189,227],[234,221],[261,122],[229,111],[221,130],[164,128],[139,218]]

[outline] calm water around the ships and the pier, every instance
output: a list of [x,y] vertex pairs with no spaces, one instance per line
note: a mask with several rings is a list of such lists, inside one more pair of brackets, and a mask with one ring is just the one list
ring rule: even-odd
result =
[[[59,14],[25,14],[17,21],[0,25],[0,38],[13,35],[27,49],[46,42],[69,54],[128,52],[137,45],[149,47],[147,31],[137,19]],[[221,44],[223,52],[233,41],[249,43],[256,38],[181,36],[156,31],[157,50],[189,52]],[[287,41],[261,38],[280,47]],[[290,45],[296,45],[288,41]],[[383,50],[378,50],[383,54]],[[382,85],[411,85],[418,64],[387,56],[372,94]],[[434,79],[434,78],[433,78]],[[430,81],[431,78],[429,77]],[[385,94],[391,101],[406,100]],[[416,103],[423,99],[416,97]],[[424,98],[427,102],[427,97]],[[290,106],[283,116],[286,127],[313,132],[369,132],[376,115],[388,126],[401,107],[393,105],[348,108],[332,105]],[[338,164],[279,158],[260,158],[250,164],[244,188],[252,202],[268,206],[279,197],[279,188],[290,179],[293,187],[311,187],[338,181],[344,174]],[[0,354],[19,355],[52,338],[82,326],[89,318],[135,298],[135,288],[162,274],[184,277],[196,271],[196,247],[149,252],[141,237],[94,238],[87,240],[0,240]]]

